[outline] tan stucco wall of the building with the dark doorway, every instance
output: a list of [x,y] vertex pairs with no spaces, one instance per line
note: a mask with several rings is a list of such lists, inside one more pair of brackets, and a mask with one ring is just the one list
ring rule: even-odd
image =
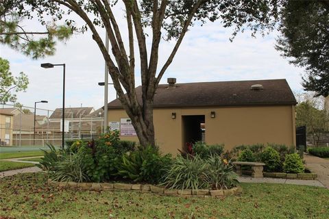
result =
[[[175,112],[176,118],[171,118]],[[210,118],[215,112],[215,118]],[[236,145],[256,143],[278,143],[295,145],[294,106],[252,106],[175,108],[154,110],[156,143],[163,153],[178,153],[183,145],[182,116],[204,115],[207,144],[225,144],[230,150]],[[109,110],[108,121],[127,118],[124,110]],[[138,141],[136,136],[121,137],[123,140]]]

